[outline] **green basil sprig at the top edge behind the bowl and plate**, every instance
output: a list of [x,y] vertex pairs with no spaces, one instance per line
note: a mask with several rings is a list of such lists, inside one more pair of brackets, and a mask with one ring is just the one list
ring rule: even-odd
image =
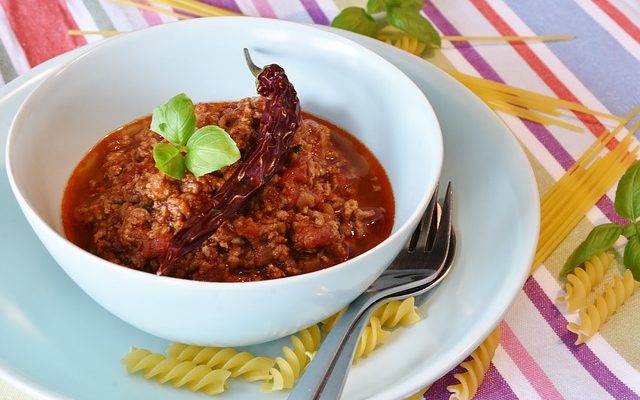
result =
[[331,26],[362,35],[377,37],[385,26],[373,18],[373,14],[386,13],[386,24],[431,47],[440,47],[440,34],[420,14],[423,0],[369,0],[367,8],[347,7],[331,21]]

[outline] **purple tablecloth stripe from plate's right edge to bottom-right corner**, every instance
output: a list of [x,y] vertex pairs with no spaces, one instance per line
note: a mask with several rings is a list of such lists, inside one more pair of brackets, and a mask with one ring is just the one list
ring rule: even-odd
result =
[[616,399],[640,399],[634,391],[629,389],[609,368],[591,351],[586,344],[574,345],[576,335],[567,330],[568,321],[558,308],[549,300],[538,282],[529,277],[524,284],[524,292],[544,317],[551,329],[558,335],[562,343],[573,354],[596,382]]

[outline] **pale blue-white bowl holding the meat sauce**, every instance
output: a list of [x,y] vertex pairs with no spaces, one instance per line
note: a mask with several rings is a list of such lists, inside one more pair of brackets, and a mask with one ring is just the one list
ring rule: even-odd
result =
[[[396,206],[392,234],[325,270],[246,283],[196,282],[123,268],[64,237],[61,200],[72,170],[106,133],[185,92],[195,102],[255,95],[242,48],[281,65],[302,108],[358,137],[384,166]],[[107,310],[159,337],[201,345],[265,342],[344,307],[387,267],[415,228],[442,164],[438,122],[422,92],[373,52],[290,22],[229,17],[161,25],[105,41],[24,102],[7,140],[11,188],[65,272]]]

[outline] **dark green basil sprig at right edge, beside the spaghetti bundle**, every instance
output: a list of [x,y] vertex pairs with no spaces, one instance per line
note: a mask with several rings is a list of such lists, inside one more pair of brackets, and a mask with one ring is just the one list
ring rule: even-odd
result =
[[560,277],[566,278],[574,268],[591,257],[609,250],[620,238],[627,238],[623,262],[640,281],[640,161],[636,161],[620,178],[616,189],[615,209],[618,214],[629,220],[629,224],[598,225],[587,238],[571,253],[560,271]]

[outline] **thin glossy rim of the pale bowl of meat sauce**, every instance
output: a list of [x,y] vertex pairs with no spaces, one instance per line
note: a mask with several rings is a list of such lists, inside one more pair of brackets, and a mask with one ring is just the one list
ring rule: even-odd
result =
[[[366,54],[368,58],[375,59],[377,63],[384,65],[385,68],[391,71],[394,71],[394,74],[397,76],[397,78],[405,80],[406,84],[410,85],[412,87],[412,90],[418,93],[419,97],[424,99],[424,105],[425,105],[424,112],[428,114],[428,118],[432,120],[432,123],[433,123],[432,128],[435,131],[434,140],[432,143],[433,145],[437,146],[435,149],[436,151],[434,152],[436,159],[433,160],[435,173],[433,174],[433,180],[431,182],[428,182],[427,185],[425,186],[425,187],[428,187],[429,189],[426,190],[423,197],[418,201],[418,207],[416,207],[416,209],[414,209],[413,212],[409,216],[407,216],[406,221],[402,225],[400,225],[395,232],[392,232],[382,242],[378,243],[376,246],[365,251],[364,253],[359,254],[356,257],[350,258],[344,262],[333,265],[331,267],[323,268],[317,271],[303,273],[300,275],[285,276],[283,278],[277,278],[277,279],[262,280],[262,281],[211,282],[211,281],[198,281],[198,280],[192,280],[192,279],[176,278],[172,276],[159,276],[156,274],[135,270],[126,266],[119,265],[117,263],[107,261],[87,250],[82,249],[81,247],[71,242],[69,239],[65,237],[64,234],[61,234],[56,229],[54,229],[48,222],[44,220],[44,218],[40,216],[38,212],[34,210],[33,207],[31,207],[29,201],[27,201],[26,197],[20,190],[18,183],[15,180],[13,168],[12,168],[13,156],[12,156],[11,149],[16,140],[16,136],[18,135],[18,133],[16,133],[18,125],[22,122],[22,120],[26,118],[24,115],[26,113],[25,110],[27,110],[30,104],[34,101],[33,99],[37,99],[39,96],[42,96],[41,93],[46,92],[49,86],[53,85],[60,75],[66,74],[67,70],[69,70],[72,66],[76,65],[77,63],[83,62],[82,60],[84,60],[85,58],[93,57],[93,54],[95,53],[107,51],[111,47],[120,46],[121,43],[138,41],[140,40],[140,38],[143,38],[148,35],[153,35],[155,32],[182,29],[180,28],[181,26],[198,25],[198,24],[242,23],[243,25],[245,25],[247,24],[247,21],[249,21],[248,24],[258,24],[258,25],[262,24],[264,26],[273,26],[275,27],[274,29],[302,30],[302,31],[308,32],[309,34],[320,35],[321,37],[326,37],[333,41],[341,42],[344,45],[353,47],[357,49],[360,53]],[[124,124],[126,123],[127,122],[124,122]],[[176,21],[176,22],[167,23],[167,24],[159,24],[159,25],[148,27],[148,28],[140,29],[137,31],[129,32],[127,34],[110,37],[105,39],[101,43],[95,44],[94,47],[90,48],[88,51],[80,54],[77,57],[74,57],[73,59],[65,63],[54,74],[45,78],[45,80],[38,87],[36,87],[32,93],[30,93],[25,98],[25,100],[22,102],[22,104],[18,108],[15,117],[11,121],[11,125],[9,127],[9,131],[7,135],[7,141],[5,146],[5,168],[7,171],[10,187],[13,191],[14,196],[18,200],[18,203],[23,213],[25,214],[28,213],[31,216],[31,218],[33,218],[33,220],[37,222],[42,229],[44,229],[45,233],[48,236],[53,238],[59,245],[67,248],[66,251],[72,252],[72,255],[74,256],[89,257],[89,260],[92,260],[93,262],[99,264],[103,268],[112,269],[114,273],[128,274],[129,276],[127,278],[129,279],[140,279],[140,280],[152,279],[152,282],[157,282],[159,284],[162,283],[164,285],[171,285],[171,286],[178,285],[182,287],[191,287],[191,288],[220,287],[220,288],[226,288],[226,289],[229,289],[231,286],[233,286],[234,288],[237,288],[237,287],[255,288],[255,287],[261,287],[261,286],[266,286],[266,287],[273,286],[274,288],[276,288],[282,284],[289,285],[289,283],[287,282],[293,282],[293,281],[305,282],[308,280],[319,279],[321,276],[324,276],[327,274],[337,273],[339,270],[349,268],[352,264],[359,262],[359,260],[363,258],[371,257],[375,253],[379,252],[381,248],[386,247],[391,242],[398,240],[398,236],[406,234],[408,230],[412,229],[412,225],[414,223],[417,223],[417,221],[420,219],[420,217],[424,213],[424,210],[426,210],[428,201],[431,198],[433,191],[435,190],[435,186],[442,172],[443,154],[444,154],[444,150],[443,150],[443,138],[442,138],[441,127],[438,122],[438,118],[435,114],[435,111],[433,110],[433,107],[429,102],[429,99],[424,95],[424,93],[420,90],[420,88],[404,72],[402,72],[398,67],[393,65],[391,62],[384,59],[382,56],[376,54],[374,51],[368,49],[367,47],[355,41],[352,41],[350,39],[347,39],[346,37],[340,36],[337,33],[320,29],[310,24],[280,20],[280,19],[267,19],[267,18],[250,17],[250,16],[223,16],[223,17],[194,18],[194,19],[181,20],[181,21]],[[377,157],[377,155],[375,154],[374,156]],[[394,198],[395,198],[395,195],[394,195]],[[31,219],[31,218],[28,218],[28,219]]]

